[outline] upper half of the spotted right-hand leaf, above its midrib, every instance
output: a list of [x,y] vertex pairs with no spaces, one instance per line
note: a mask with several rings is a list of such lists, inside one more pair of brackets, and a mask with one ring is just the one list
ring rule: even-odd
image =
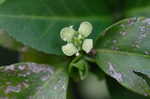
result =
[[122,20],[99,35],[97,49],[120,50],[150,54],[150,18],[135,17]]

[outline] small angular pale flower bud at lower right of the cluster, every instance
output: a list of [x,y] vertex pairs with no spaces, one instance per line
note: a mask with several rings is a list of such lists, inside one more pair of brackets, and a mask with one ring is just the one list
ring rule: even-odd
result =
[[89,53],[91,49],[93,48],[93,40],[92,39],[85,39],[82,44],[82,49]]

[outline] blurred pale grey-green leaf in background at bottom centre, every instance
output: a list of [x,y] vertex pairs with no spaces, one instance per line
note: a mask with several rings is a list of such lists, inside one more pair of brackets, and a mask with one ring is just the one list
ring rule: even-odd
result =
[[79,93],[83,99],[110,99],[106,80],[100,80],[92,73],[86,80],[80,82],[79,88]]

